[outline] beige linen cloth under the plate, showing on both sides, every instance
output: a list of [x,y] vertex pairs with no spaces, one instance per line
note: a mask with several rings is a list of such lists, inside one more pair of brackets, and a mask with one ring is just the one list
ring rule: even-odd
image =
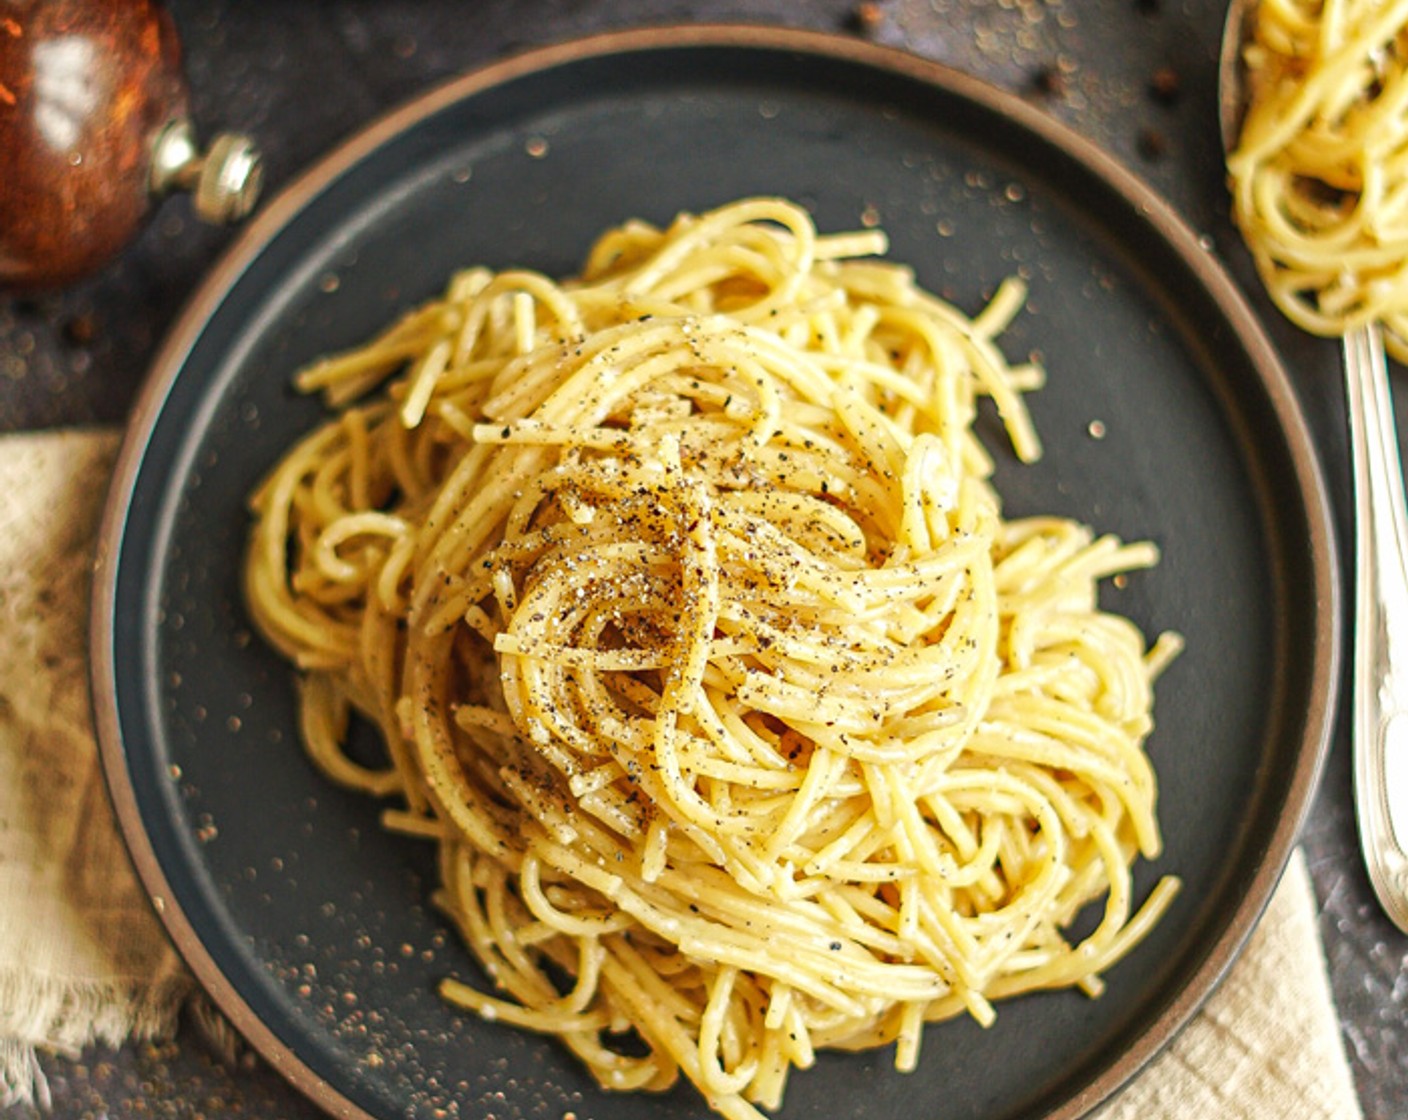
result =
[[[111,433],[0,437],[0,1106],[34,1048],[170,1027],[189,981],[117,837],[90,728],[89,558]],[[1247,951],[1100,1120],[1359,1120],[1304,859]]]

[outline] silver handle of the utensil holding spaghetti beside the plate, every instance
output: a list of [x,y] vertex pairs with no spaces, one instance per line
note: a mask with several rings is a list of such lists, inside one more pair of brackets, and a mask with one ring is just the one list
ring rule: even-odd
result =
[[1369,879],[1408,933],[1408,517],[1377,325],[1345,335],[1354,468],[1354,810]]

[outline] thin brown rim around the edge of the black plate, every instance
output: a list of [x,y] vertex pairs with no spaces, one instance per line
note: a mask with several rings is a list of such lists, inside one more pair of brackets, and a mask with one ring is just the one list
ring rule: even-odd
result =
[[1256,927],[1295,847],[1329,754],[1339,693],[1343,644],[1339,610],[1342,587],[1333,521],[1324,472],[1298,396],[1264,324],[1226,268],[1173,204],[1094,139],[1032,106],[1017,93],[945,62],[901,48],[829,31],[738,23],[632,27],[529,48],[474,66],[373,116],[348,138],[315,156],[256,211],[206,272],[156,349],[124,427],[99,527],[89,617],[89,683],[101,768],[120,831],[138,878],[177,952],[239,1034],[296,1090],[328,1114],[344,1120],[384,1120],[355,1105],[317,1075],[294,1048],[279,1038],[251,1009],[218,966],[180,904],[175,902],[175,890],[148,834],[127,766],[127,749],[115,702],[117,576],[135,485],[166,397],[207,323],[259,252],[276,239],[327,186],[420,121],[514,79],[593,58],[693,48],[755,48],[867,65],[976,103],[1063,151],[1132,206],[1163,245],[1183,259],[1198,285],[1217,300],[1246,348],[1257,380],[1266,392],[1266,403],[1286,441],[1287,458],[1294,468],[1293,489],[1300,497],[1298,509],[1304,513],[1309,531],[1307,555],[1314,578],[1311,602],[1315,611],[1312,627],[1315,641],[1308,675],[1309,703],[1304,713],[1304,733],[1295,755],[1294,773],[1287,783],[1281,814],[1247,882],[1246,892],[1201,964],[1186,978],[1173,999],[1155,1013],[1155,1019],[1138,1038],[1124,1045],[1114,1061],[1071,1092],[1055,1110],[1043,1114],[1043,1120],[1077,1120],[1128,1085],[1217,989]]

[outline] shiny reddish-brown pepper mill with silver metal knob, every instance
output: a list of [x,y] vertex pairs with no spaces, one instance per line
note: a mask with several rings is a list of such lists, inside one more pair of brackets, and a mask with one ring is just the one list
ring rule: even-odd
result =
[[0,287],[54,287],[111,259],[155,201],[207,221],[253,207],[259,154],[201,149],[180,44],[151,0],[0,0]]

